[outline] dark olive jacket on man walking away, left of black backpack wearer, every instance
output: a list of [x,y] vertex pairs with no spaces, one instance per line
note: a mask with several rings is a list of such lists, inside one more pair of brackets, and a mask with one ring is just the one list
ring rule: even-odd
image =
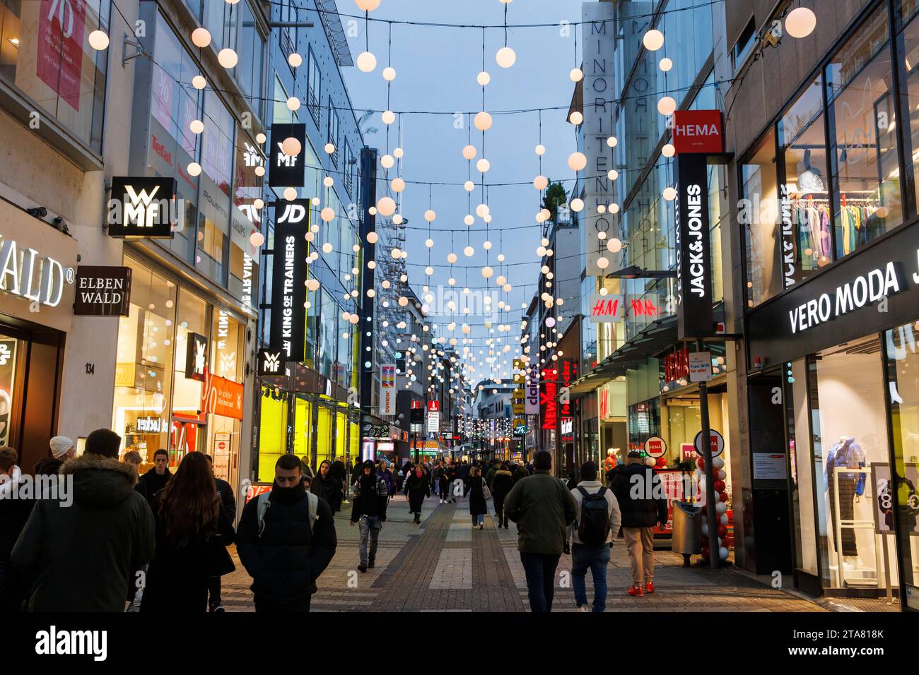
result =
[[517,523],[517,550],[560,556],[577,505],[559,478],[538,470],[516,482],[505,497],[505,513]]

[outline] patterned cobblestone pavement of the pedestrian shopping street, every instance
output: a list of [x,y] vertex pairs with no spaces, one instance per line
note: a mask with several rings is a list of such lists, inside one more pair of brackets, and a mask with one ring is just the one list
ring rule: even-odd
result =
[[[491,502],[489,502],[491,508]],[[314,612],[527,612],[527,584],[516,549],[516,525],[496,529],[492,515],[473,531],[469,502],[425,501],[422,523],[413,523],[408,502],[396,496],[380,532],[376,567],[357,571],[357,526],[348,524],[350,506],[335,516],[338,548],[317,581]],[[233,551],[236,571],[223,577],[228,612],[255,609],[251,580]],[[643,598],[625,594],[629,557],[622,539],[613,546],[607,569],[607,612],[822,612],[820,605],[770,586],[731,568],[684,568],[683,558],[655,552],[656,592]],[[573,612],[571,557],[556,572],[553,612]],[[587,575],[587,599],[593,598]]]

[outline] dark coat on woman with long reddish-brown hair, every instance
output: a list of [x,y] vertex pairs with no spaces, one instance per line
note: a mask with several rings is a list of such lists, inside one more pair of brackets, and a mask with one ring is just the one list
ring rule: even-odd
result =
[[141,612],[207,612],[208,579],[214,572],[210,567],[210,546],[233,544],[235,533],[230,514],[223,508],[221,501],[217,522],[210,523],[187,543],[176,546],[166,536],[159,497],[153,500],[153,509],[156,553],[147,569]]

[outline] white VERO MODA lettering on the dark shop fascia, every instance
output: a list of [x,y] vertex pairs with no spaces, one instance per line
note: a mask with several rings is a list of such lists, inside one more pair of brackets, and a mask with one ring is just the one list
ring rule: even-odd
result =
[[[919,252],[916,253],[919,255]],[[913,280],[919,283],[916,275],[913,275]],[[905,285],[897,265],[891,261],[883,269],[873,269],[867,275],[857,276],[853,281],[836,287],[835,293],[823,293],[819,298],[811,298],[789,309],[791,332],[804,332],[854,309],[862,309],[880,298],[899,293]]]

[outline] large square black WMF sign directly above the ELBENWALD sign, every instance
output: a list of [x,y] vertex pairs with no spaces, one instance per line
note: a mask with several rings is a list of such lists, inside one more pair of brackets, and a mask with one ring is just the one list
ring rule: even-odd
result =
[[108,235],[130,239],[172,239],[173,223],[184,217],[176,203],[176,179],[112,178]]

